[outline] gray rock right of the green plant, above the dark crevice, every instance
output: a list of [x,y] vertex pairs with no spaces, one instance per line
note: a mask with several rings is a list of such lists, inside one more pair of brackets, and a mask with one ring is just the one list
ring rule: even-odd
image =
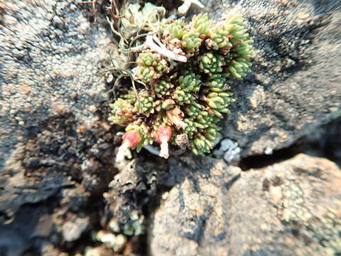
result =
[[254,39],[253,73],[232,85],[238,101],[223,132],[242,156],[289,146],[340,114],[340,1],[227,0],[208,8],[218,17],[242,13]]

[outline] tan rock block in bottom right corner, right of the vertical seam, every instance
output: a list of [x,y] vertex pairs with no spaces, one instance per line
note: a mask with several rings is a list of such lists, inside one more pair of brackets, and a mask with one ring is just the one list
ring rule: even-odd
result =
[[340,181],[334,163],[304,154],[244,173],[228,196],[230,255],[340,253]]

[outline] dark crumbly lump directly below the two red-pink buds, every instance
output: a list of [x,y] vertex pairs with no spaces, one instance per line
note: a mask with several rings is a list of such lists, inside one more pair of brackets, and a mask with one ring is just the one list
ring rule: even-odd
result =
[[[160,176],[168,176],[166,161],[127,161],[120,173],[109,183],[106,199],[106,218],[117,223],[118,230],[124,233],[135,232],[134,225],[139,218],[144,218],[144,208],[157,197]],[[134,224],[135,223],[135,224]],[[137,226],[139,229],[139,225]],[[131,231],[129,231],[131,230]]]

